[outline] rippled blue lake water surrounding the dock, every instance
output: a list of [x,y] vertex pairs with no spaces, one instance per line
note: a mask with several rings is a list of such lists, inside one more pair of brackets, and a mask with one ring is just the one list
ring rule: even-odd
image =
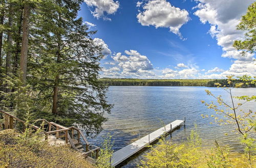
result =
[[[114,141],[113,149],[117,151],[139,137],[162,127],[163,123],[166,125],[176,119],[183,119],[185,116],[185,127],[181,126],[172,133],[172,141],[176,143],[185,141],[196,123],[204,148],[210,148],[217,139],[220,144],[229,145],[231,153],[242,152],[243,148],[237,136],[230,131],[229,127],[209,124],[213,121],[212,119],[201,117],[201,114],[209,116],[215,114],[215,111],[207,109],[200,102],[201,100],[206,102],[214,100],[213,97],[206,95],[206,89],[215,95],[222,95],[222,98],[230,103],[228,93],[221,88],[112,86],[109,88],[108,101],[114,104],[114,108],[111,114],[105,115],[109,121],[104,123],[104,130],[89,141],[100,146],[103,141],[102,136],[110,133]],[[233,89],[232,93],[233,96],[255,95],[256,89]],[[241,108],[255,109],[253,105],[255,102],[247,102]],[[225,132],[228,132],[229,136],[224,135]],[[135,167],[144,158],[146,152],[140,153],[123,167]]]

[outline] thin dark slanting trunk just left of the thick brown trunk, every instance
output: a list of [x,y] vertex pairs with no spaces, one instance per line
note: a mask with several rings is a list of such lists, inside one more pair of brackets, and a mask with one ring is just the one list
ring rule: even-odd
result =
[[16,47],[15,47],[15,54],[14,54],[14,61],[13,61],[13,74],[17,76],[17,71],[18,71],[18,65],[19,65],[19,60],[20,60],[20,43],[22,42],[22,20],[23,20],[23,9],[20,11],[20,16],[19,20],[17,22],[18,26],[18,31],[17,31],[17,37],[15,39],[16,41]]

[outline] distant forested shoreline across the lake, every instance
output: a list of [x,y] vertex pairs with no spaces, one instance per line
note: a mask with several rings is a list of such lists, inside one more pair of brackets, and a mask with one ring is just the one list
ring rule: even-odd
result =
[[[228,86],[227,79],[133,79],[133,78],[100,78],[108,86],[197,86],[216,87],[215,83]],[[235,80],[234,83],[243,82]],[[233,84],[234,85],[234,84]],[[233,87],[233,86],[231,86]],[[244,87],[255,87],[245,85]]]

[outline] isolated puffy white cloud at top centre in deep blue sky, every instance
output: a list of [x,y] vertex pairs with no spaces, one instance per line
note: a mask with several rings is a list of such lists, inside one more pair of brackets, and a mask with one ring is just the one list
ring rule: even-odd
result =
[[166,0],[151,0],[143,6],[143,10],[137,15],[141,25],[153,25],[156,28],[167,27],[170,32],[182,38],[179,29],[189,20],[185,9],[176,8]]

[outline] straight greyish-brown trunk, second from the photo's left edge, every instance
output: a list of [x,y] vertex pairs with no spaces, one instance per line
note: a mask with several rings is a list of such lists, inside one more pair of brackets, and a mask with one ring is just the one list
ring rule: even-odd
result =
[[[12,58],[12,26],[13,26],[13,7],[10,5],[9,9],[9,18],[8,18],[8,26],[9,29],[7,31],[7,43],[8,43],[8,48],[7,48],[7,53],[6,53],[6,75],[10,76],[11,75],[11,58]],[[10,92],[10,89],[6,89],[6,92]]]

